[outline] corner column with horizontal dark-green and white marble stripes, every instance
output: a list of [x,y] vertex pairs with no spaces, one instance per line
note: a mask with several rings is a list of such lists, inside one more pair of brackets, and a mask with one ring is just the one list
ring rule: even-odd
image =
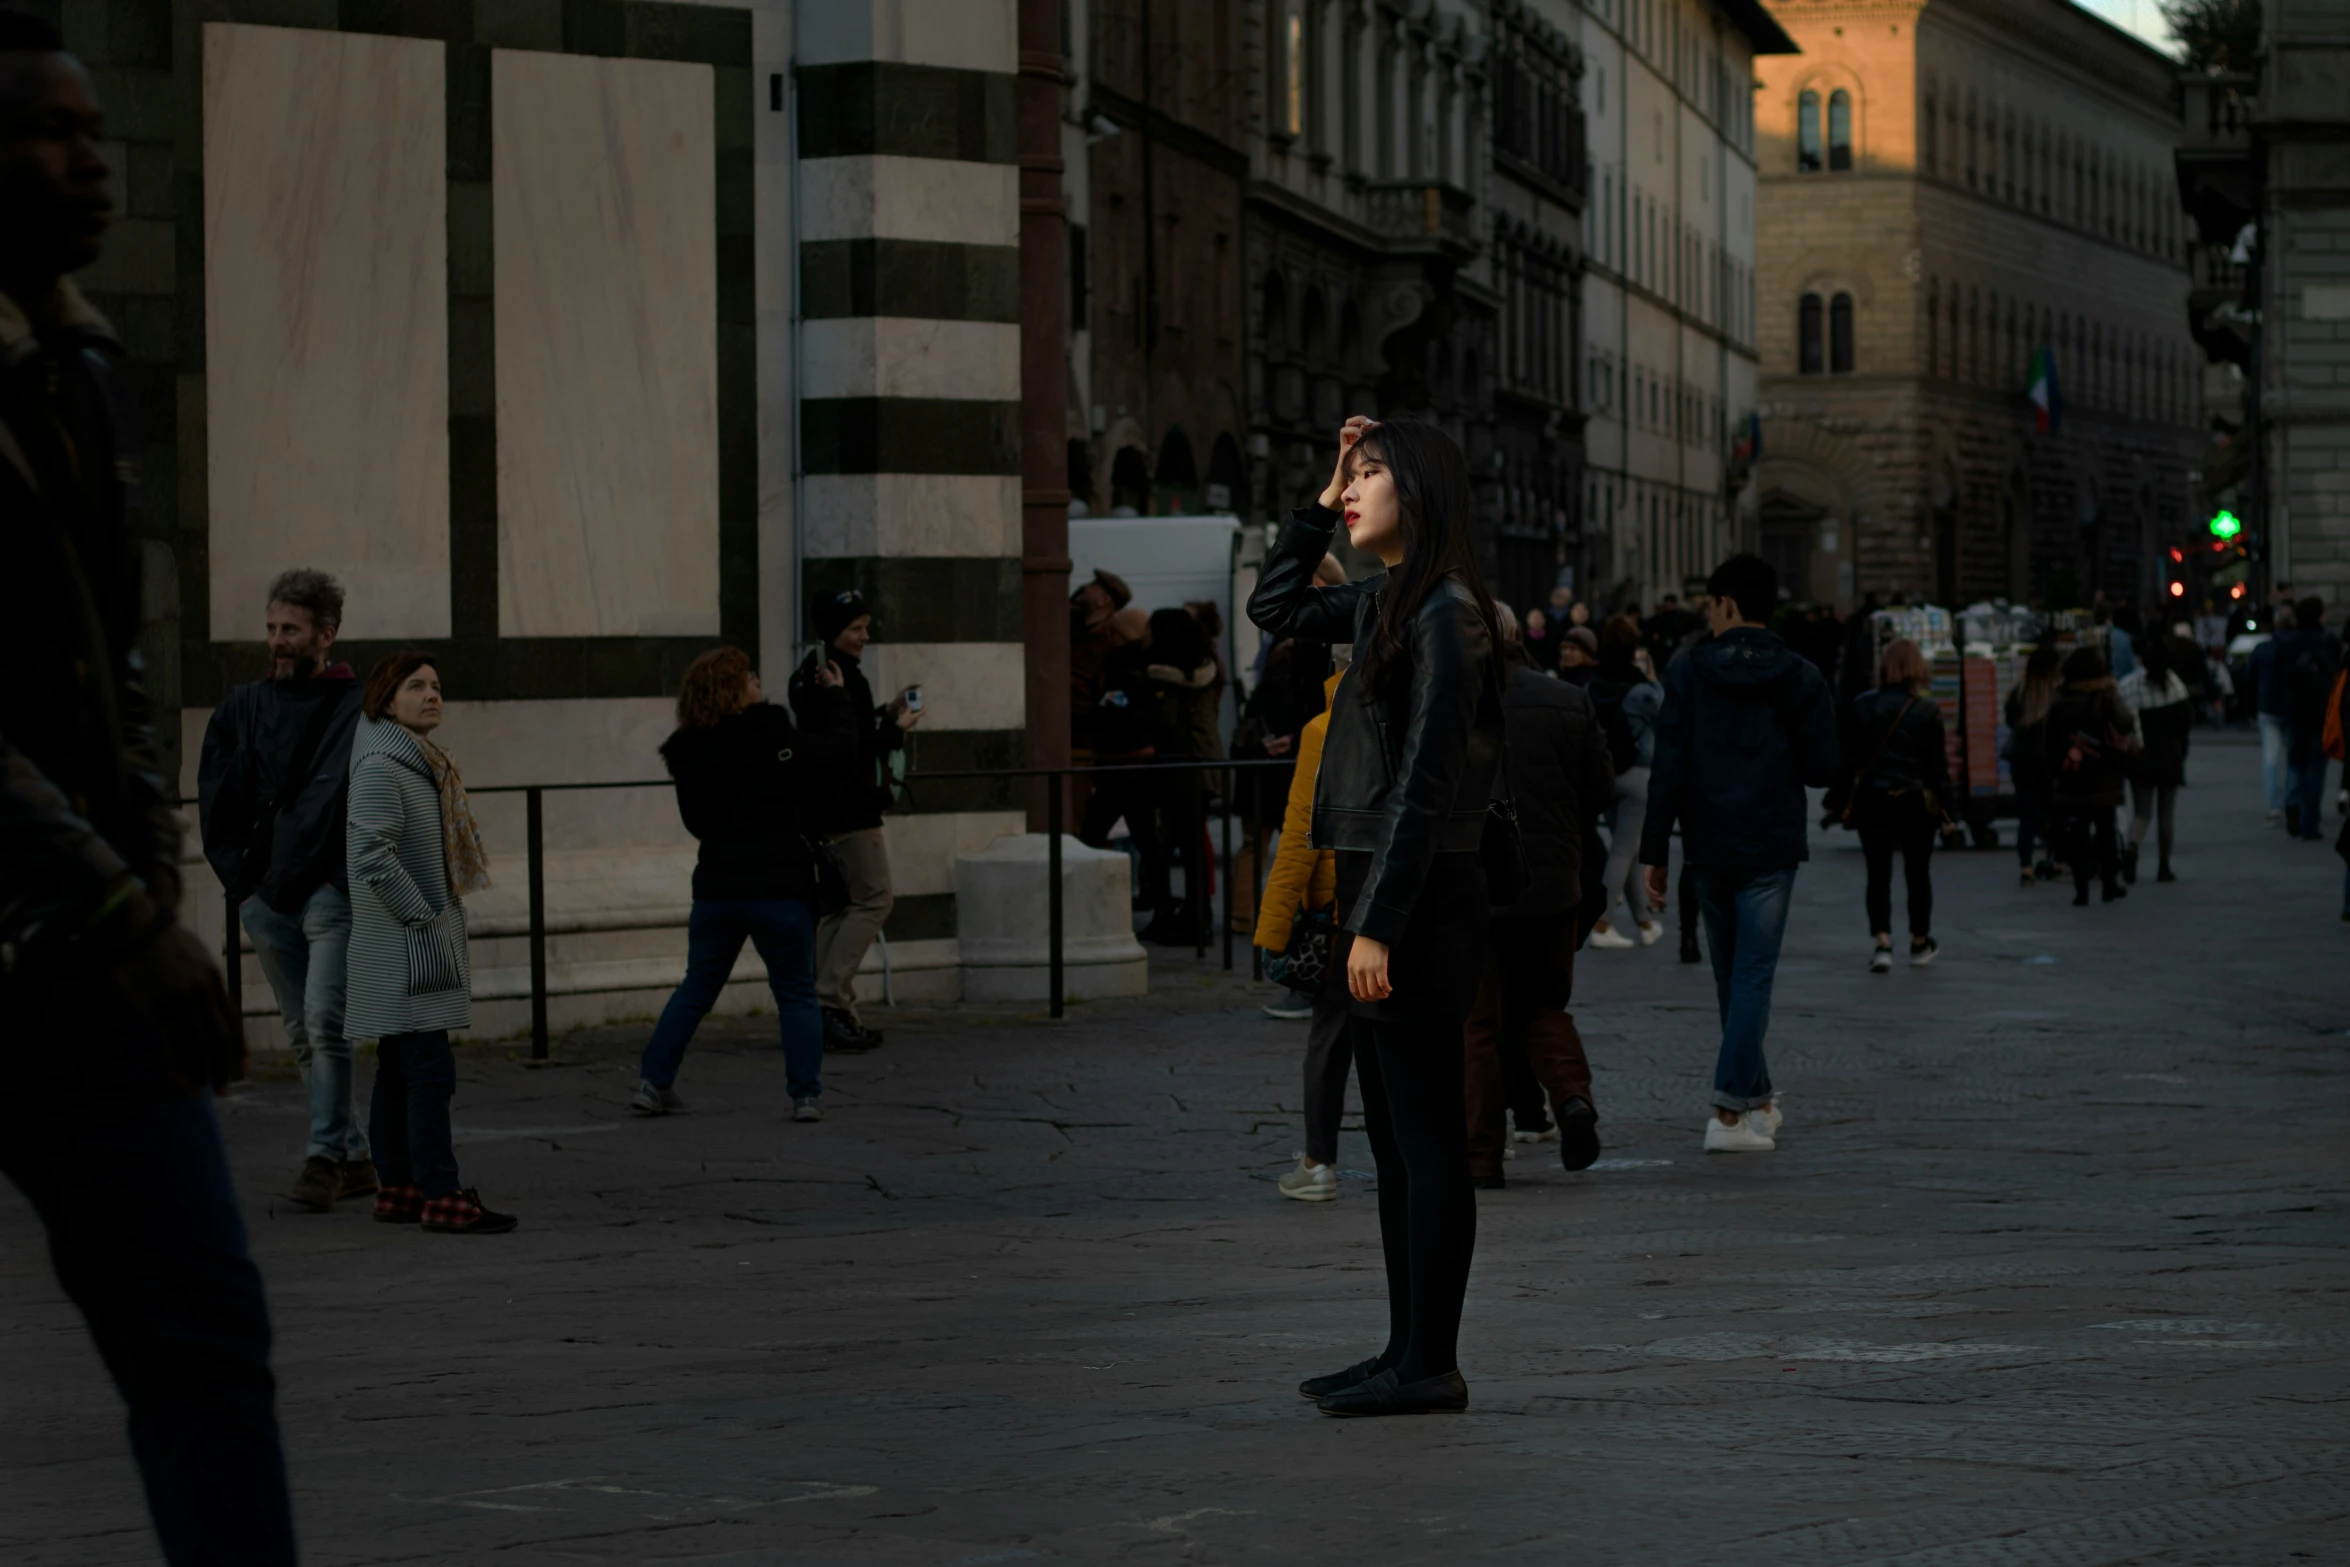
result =
[[[874,606],[874,691],[924,688],[916,768],[1020,766],[1015,9],[832,0],[799,26],[806,592]],[[900,966],[954,961],[954,855],[1020,829],[996,782],[905,801]]]

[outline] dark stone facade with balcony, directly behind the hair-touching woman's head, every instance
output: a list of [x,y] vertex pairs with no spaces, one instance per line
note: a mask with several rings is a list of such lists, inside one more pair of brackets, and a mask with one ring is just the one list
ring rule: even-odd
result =
[[1410,411],[1462,442],[1495,517],[1485,7],[1250,0],[1246,16],[1255,512],[1321,489],[1349,413]]

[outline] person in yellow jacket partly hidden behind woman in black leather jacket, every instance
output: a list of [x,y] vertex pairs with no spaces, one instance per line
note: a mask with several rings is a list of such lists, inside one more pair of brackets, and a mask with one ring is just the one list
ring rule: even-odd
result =
[[[1290,928],[1304,909],[1328,909],[1337,900],[1337,855],[1314,848],[1314,778],[1321,773],[1323,735],[1330,733],[1330,702],[1342,674],[1323,681],[1323,709],[1297,735],[1297,775],[1281,811],[1281,848],[1264,874],[1264,902],[1257,904],[1257,947],[1288,951]],[[1281,1177],[1281,1196],[1300,1203],[1328,1203],[1337,1196],[1337,1123],[1347,1114],[1347,1069],[1354,1050],[1347,1045],[1347,987],[1323,984],[1314,996],[1297,994],[1264,1008],[1267,1017],[1311,1017],[1307,1024],[1307,1146],[1297,1168]]]

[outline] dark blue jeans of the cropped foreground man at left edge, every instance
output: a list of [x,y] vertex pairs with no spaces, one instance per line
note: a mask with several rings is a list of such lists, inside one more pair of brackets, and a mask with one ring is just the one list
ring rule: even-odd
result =
[[16,1095],[0,1170],[47,1226],[56,1280],[129,1405],[164,1560],[291,1567],[270,1318],[212,1099]]

